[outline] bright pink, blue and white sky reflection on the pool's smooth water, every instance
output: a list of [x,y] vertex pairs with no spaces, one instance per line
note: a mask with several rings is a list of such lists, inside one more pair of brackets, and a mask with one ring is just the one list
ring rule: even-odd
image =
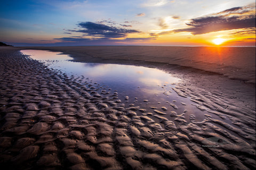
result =
[[84,75],[93,82],[106,84],[116,89],[121,95],[130,95],[130,98],[140,96],[143,99],[149,99],[158,94],[159,101],[166,101],[166,95],[163,94],[165,90],[161,87],[164,84],[170,85],[179,81],[178,78],[154,68],[71,62],[67,61],[72,59],[68,55],[45,50],[21,50],[21,53],[30,55],[35,60],[41,60],[49,67],[69,75],[75,75],[75,77]]

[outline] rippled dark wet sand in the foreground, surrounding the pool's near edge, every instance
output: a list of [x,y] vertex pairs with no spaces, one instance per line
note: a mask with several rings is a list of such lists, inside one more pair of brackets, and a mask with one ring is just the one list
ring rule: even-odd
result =
[[124,108],[114,90],[97,94],[95,89],[104,90],[100,84],[82,85],[84,78],[49,70],[17,49],[0,50],[1,167],[255,168],[253,84],[174,67],[170,70],[186,79],[174,89],[177,94],[223,121],[206,115],[202,122],[193,122],[193,116],[187,122],[184,112],[172,115],[179,122],[174,123],[155,114],[162,127],[151,116],[138,115],[138,107]]

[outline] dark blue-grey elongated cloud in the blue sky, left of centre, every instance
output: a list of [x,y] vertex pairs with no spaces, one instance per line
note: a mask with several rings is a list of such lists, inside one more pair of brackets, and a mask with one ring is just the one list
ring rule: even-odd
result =
[[122,38],[126,37],[128,33],[139,33],[138,30],[123,29],[106,24],[94,23],[94,22],[80,22],[78,26],[84,28],[82,30],[69,30],[73,32],[82,32],[87,36],[102,37],[102,38]]

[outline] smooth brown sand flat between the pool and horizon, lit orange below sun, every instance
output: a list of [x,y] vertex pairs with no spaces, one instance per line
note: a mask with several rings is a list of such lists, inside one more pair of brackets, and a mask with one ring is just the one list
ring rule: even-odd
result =
[[46,49],[74,57],[77,62],[121,63],[159,67],[169,71],[183,66],[255,83],[255,47],[15,47]]

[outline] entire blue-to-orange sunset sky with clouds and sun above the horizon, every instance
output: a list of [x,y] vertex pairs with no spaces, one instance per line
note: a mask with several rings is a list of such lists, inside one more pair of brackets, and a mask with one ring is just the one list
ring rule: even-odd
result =
[[14,46],[255,46],[255,1],[1,1],[0,41]]

